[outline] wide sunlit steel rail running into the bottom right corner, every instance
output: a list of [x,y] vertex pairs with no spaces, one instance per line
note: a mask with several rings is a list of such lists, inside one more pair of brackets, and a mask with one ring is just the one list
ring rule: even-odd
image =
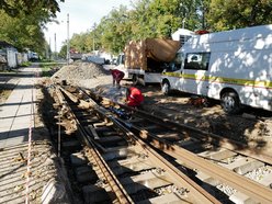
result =
[[[197,168],[199,170],[211,174],[222,182],[243,192],[261,203],[272,203],[272,190],[263,186],[256,181],[235,173],[224,167],[217,166],[208,160],[205,160],[194,154],[181,148],[180,146],[170,144],[147,131],[138,129],[143,139],[148,139],[156,148],[163,150],[163,152],[181,160],[185,166]],[[149,137],[149,138],[148,138]],[[150,140],[150,137],[154,138]]]

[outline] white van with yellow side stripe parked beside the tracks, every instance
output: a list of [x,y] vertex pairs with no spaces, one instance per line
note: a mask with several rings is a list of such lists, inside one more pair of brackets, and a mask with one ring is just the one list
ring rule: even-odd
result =
[[162,72],[161,90],[220,100],[227,113],[242,104],[272,111],[272,24],[192,36]]

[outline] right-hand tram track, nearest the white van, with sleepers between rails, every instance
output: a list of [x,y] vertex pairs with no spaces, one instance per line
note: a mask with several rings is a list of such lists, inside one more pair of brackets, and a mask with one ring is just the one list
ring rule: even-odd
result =
[[[248,200],[252,199],[261,203],[271,202],[269,196],[269,194],[271,194],[271,183],[265,181],[260,184],[245,177],[245,174],[256,171],[256,169],[265,168],[269,172],[267,180],[271,181],[271,157],[265,155],[265,152],[262,154],[243,144],[226,139],[215,134],[175,124],[166,118],[161,120],[146,112],[132,110],[125,105],[109,101],[109,99],[103,99],[102,97],[92,97],[97,98],[101,104],[107,104],[107,106],[115,105],[118,109],[122,107],[133,111],[133,118],[122,118],[121,121],[128,127],[135,129],[143,139],[152,144],[165,154],[180,160],[182,166],[190,169],[197,169],[197,171],[208,174],[208,179],[215,178],[220,182],[229,184],[238,190],[239,193],[246,194]],[[184,129],[186,131],[185,134]],[[189,131],[191,133],[188,133]],[[173,137],[169,138],[171,135]],[[188,135],[194,135],[197,139],[188,139]],[[209,148],[203,148],[203,144],[206,144]],[[195,156],[196,154],[197,156]],[[207,163],[207,160],[212,162]],[[215,161],[219,165],[214,165]],[[217,181],[212,180],[218,185]],[[236,200],[235,195],[233,200]]]

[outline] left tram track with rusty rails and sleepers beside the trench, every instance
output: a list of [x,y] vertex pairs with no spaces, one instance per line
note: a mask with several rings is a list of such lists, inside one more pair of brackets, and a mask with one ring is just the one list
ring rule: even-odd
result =
[[[66,126],[67,133],[80,136],[83,144],[80,152],[89,163],[86,168],[89,173],[95,172],[95,177],[90,175],[95,178],[93,181],[81,182],[84,202],[220,203],[149,144],[137,138],[109,110],[89,97],[83,100],[83,92],[73,91],[56,87],[54,98],[61,117],[59,124]],[[101,182],[102,185],[98,185]],[[101,194],[103,184],[106,185],[103,192],[109,196],[99,197],[107,200],[93,201],[93,196],[88,196],[88,193]],[[100,191],[95,191],[98,189]]]

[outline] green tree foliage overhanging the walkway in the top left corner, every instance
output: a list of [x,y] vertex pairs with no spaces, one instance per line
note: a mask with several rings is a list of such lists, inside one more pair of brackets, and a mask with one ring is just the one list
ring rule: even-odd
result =
[[[60,0],[64,2],[64,0]],[[0,41],[44,54],[46,41],[43,29],[59,11],[55,0],[1,0]]]

